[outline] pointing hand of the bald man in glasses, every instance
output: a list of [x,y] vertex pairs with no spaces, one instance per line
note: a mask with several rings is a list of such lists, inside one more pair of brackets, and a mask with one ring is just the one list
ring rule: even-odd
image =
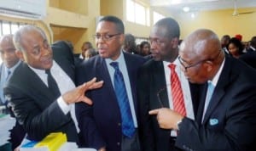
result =
[[160,128],[177,130],[177,123],[183,120],[184,116],[176,111],[167,108],[153,109],[148,112],[149,115],[156,115]]

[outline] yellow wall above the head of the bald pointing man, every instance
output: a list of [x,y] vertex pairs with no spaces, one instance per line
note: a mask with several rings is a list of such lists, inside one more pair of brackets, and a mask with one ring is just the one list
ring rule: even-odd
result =
[[[256,8],[238,9],[238,12],[255,11]],[[195,19],[191,19],[189,14],[177,15],[176,20],[181,26],[181,38],[199,28],[207,28],[216,32],[221,38],[223,35],[235,36],[241,34],[242,41],[251,40],[256,36],[256,12],[253,14],[239,14],[232,16],[233,9],[218,11],[205,11],[195,14]]]

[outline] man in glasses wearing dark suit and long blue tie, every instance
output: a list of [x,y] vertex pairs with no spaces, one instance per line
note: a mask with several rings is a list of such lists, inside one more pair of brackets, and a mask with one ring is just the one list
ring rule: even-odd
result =
[[[84,61],[76,70],[78,84],[91,77],[104,81],[102,88],[87,94],[94,101],[93,106],[84,103],[76,105],[79,128],[86,147],[101,151],[140,150],[137,136],[136,84],[137,69],[144,59],[122,51],[124,31],[121,20],[114,16],[103,17],[96,27],[96,47],[99,55]],[[128,100],[123,100],[127,103],[126,106],[120,105],[119,89],[115,85],[118,71],[113,68],[113,64],[119,64],[119,71],[125,81],[122,90],[125,88],[126,91],[122,96],[128,96]],[[124,110],[127,112],[123,112]],[[128,112],[131,116],[123,118],[123,113]],[[122,128],[125,126],[124,120],[129,120],[129,127],[135,130],[131,135],[126,135],[125,128]]]

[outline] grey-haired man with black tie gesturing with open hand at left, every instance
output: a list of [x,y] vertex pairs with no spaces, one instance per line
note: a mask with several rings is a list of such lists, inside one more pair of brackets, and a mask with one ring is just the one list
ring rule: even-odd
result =
[[[73,63],[63,56],[55,56],[53,60],[44,31],[38,27],[21,27],[15,33],[14,42],[16,54],[24,63],[9,79],[4,95],[25,128],[27,138],[40,141],[51,132],[64,132],[67,141],[79,143],[74,103],[91,104],[84,92],[101,87],[102,82],[94,79],[75,88]],[[67,52],[65,48],[61,51]]]

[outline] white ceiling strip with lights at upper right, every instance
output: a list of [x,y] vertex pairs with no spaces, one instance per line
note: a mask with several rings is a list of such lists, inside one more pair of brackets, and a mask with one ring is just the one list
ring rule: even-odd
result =
[[164,8],[172,13],[178,13],[183,7],[190,11],[218,10],[234,8],[256,8],[256,0],[149,0],[154,8]]

